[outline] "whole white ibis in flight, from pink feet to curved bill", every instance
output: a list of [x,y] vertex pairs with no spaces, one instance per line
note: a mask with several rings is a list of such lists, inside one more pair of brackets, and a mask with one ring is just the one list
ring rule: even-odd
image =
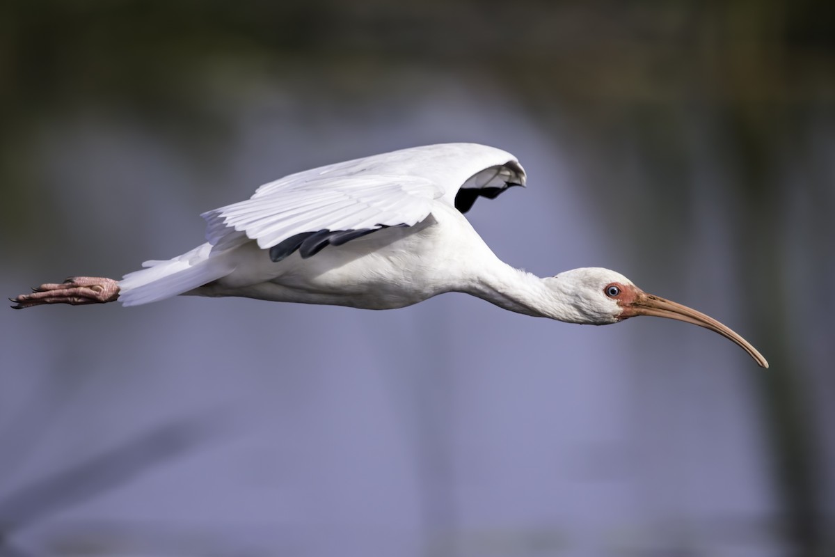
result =
[[478,144],[349,160],[286,176],[249,200],[204,213],[208,241],[174,259],[146,261],[121,281],[78,276],[43,284],[12,301],[18,309],[117,299],[135,306],[187,294],[382,310],[458,291],[569,323],[669,317],[718,332],[768,367],[736,332],[615,271],[539,278],[500,261],[463,213],[479,196],[524,183],[512,154]]

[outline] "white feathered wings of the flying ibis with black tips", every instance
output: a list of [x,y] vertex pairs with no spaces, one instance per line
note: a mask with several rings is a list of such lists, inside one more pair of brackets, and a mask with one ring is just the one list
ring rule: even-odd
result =
[[428,145],[289,175],[202,216],[216,249],[255,240],[281,261],[296,250],[309,257],[388,226],[415,225],[433,203],[465,212],[478,195],[493,198],[510,185],[524,185],[524,170],[509,153]]

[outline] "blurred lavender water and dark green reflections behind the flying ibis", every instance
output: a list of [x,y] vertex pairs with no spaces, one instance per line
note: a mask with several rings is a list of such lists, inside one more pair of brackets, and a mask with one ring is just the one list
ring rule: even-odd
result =
[[119,277],[298,170],[446,141],[540,276],[697,327],[178,298],[0,312],[0,554],[835,554],[835,4],[0,4],[0,286]]

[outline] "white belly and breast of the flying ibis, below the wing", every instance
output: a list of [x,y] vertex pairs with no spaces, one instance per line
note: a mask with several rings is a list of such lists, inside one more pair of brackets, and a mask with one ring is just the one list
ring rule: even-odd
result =
[[414,226],[379,230],[306,259],[296,252],[278,263],[250,242],[238,248],[235,271],[200,293],[381,310],[410,306],[459,289],[459,263],[468,250],[459,245],[462,235],[449,241],[446,231],[430,215]]

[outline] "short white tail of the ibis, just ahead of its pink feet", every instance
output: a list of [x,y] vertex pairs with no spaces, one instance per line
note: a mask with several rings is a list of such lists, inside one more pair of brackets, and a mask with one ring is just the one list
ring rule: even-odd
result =
[[128,273],[119,281],[119,301],[139,306],[194,290],[235,270],[230,261],[211,253],[203,244],[167,261],[145,261],[141,271]]

